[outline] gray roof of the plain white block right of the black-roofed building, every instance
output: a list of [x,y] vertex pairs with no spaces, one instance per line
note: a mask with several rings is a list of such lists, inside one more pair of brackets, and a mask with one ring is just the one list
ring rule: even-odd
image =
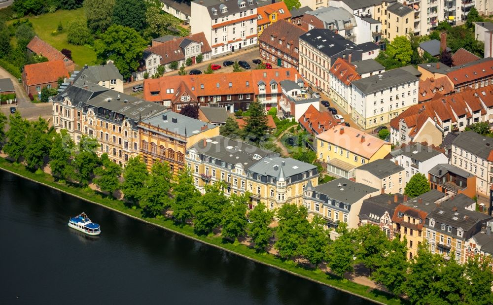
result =
[[380,74],[354,80],[352,81],[352,85],[364,94],[370,94],[392,86],[398,86],[403,83],[418,80],[419,78],[409,71],[397,68]]

